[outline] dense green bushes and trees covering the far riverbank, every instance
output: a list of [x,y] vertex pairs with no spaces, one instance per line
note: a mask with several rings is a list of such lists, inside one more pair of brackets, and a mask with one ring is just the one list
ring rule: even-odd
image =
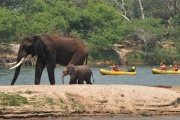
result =
[[[149,64],[180,61],[178,0],[0,0],[0,42],[57,33],[81,38],[91,60],[115,59],[112,46],[129,35],[148,44],[132,55]],[[173,42],[167,49],[157,43]],[[107,55],[108,54],[108,55]]]

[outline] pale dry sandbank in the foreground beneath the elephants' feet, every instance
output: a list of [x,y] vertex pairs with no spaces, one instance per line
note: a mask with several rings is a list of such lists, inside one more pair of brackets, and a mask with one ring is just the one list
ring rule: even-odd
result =
[[18,94],[28,103],[4,105],[0,97],[0,117],[179,114],[178,89],[133,85],[1,86],[1,94]]

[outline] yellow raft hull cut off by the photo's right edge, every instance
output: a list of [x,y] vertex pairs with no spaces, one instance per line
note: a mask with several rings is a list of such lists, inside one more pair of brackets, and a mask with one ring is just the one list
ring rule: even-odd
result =
[[157,68],[152,69],[153,74],[180,74],[180,70],[178,71],[173,71],[173,70],[159,70]]

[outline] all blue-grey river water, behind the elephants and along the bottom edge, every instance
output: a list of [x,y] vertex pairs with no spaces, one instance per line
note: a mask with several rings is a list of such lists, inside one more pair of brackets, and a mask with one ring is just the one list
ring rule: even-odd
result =
[[[180,86],[180,74],[152,74],[151,70],[156,66],[137,66],[136,75],[119,75],[109,76],[101,75],[99,73],[100,68],[108,67],[92,67],[95,84],[108,85],[108,84],[126,84],[126,85],[167,85],[167,86]],[[61,73],[64,67],[56,67],[55,77],[56,84],[62,84]],[[122,69],[126,69],[125,67]],[[19,77],[16,81],[16,85],[34,85],[34,67],[22,66]],[[14,70],[0,67],[0,85],[10,85],[14,75]],[[65,84],[68,84],[69,76],[65,77]],[[43,72],[41,78],[41,84],[49,84],[49,79],[46,69]],[[179,120],[180,116],[152,116],[152,117],[130,117],[130,116],[101,116],[101,117],[65,117],[65,118],[42,118],[42,120]],[[1,119],[0,119],[1,120]],[[41,120],[41,118],[27,118],[27,120]]]

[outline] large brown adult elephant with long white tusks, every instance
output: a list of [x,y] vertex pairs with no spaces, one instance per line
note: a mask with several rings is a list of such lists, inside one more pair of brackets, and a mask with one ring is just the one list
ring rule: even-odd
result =
[[55,84],[54,69],[56,64],[87,64],[87,49],[84,44],[73,37],[63,37],[54,34],[43,34],[25,37],[20,44],[17,64],[10,69],[15,70],[11,85],[14,85],[24,58],[28,55],[37,56],[35,68],[35,85],[40,84],[43,69],[46,67],[51,85]]

